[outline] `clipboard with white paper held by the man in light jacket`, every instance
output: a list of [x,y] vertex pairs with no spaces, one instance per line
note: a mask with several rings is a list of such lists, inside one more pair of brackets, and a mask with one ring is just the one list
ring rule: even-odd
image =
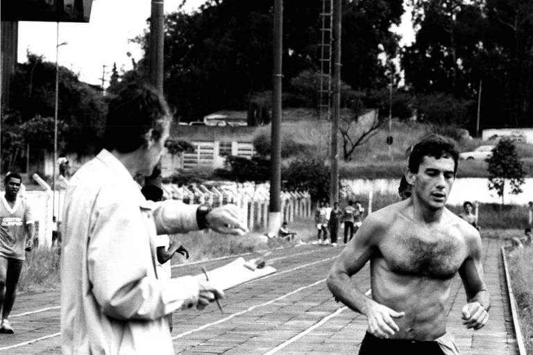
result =
[[[272,266],[264,266],[264,268],[256,268],[255,270],[250,270],[244,266],[246,261],[243,257],[239,257],[234,261],[216,268],[207,272],[210,283],[214,284],[218,288],[221,288],[223,291],[228,290],[229,288],[244,284],[255,279],[260,279],[261,277],[273,274],[276,272],[276,269]],[[205,275],[203,273],[194,275],[198,279],[205,280]]]

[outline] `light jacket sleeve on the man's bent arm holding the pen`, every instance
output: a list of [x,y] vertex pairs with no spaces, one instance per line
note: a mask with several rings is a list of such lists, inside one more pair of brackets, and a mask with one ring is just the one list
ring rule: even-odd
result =
[[149,240],[155,231],[151,214],[146,216],[145,221],[139,205],[124,202],[94,214],[87,271],[96,301],[112,318],[153,320],[198,301],[193,277],[155,277]]

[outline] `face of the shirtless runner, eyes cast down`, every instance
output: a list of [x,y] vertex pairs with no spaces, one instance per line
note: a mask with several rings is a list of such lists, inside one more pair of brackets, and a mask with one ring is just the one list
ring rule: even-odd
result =
[[418,173],[412,175],[418,200],[432,209],[443,208],[455,180],[454,167],[451,157],[423,157]]

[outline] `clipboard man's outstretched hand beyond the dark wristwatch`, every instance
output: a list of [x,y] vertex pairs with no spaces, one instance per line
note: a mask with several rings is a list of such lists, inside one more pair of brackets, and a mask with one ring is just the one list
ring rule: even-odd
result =
[[214,232],[239,236],[250,232],[242,220],[242,210],[235,205],[214,208],[205,216],[205,224]]

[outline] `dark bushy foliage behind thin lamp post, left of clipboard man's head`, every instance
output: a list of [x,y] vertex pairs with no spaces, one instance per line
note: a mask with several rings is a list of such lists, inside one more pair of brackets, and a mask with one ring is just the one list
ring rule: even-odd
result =
[[[56,64],[28,53],[28,61],[19,64],[12,78],[10,95],[10,109],[19,112],[17,124],[26,123],[26,138],[35,148],[50,149],[50,141],[36,139],[36,135],[42,128],[49,137],[49,117],[55,110]],[[60,135],[66,151],[92,153],[99,146],[105,125],[103,96],[65,67],[59,67],[58,122],[64,128]]]

